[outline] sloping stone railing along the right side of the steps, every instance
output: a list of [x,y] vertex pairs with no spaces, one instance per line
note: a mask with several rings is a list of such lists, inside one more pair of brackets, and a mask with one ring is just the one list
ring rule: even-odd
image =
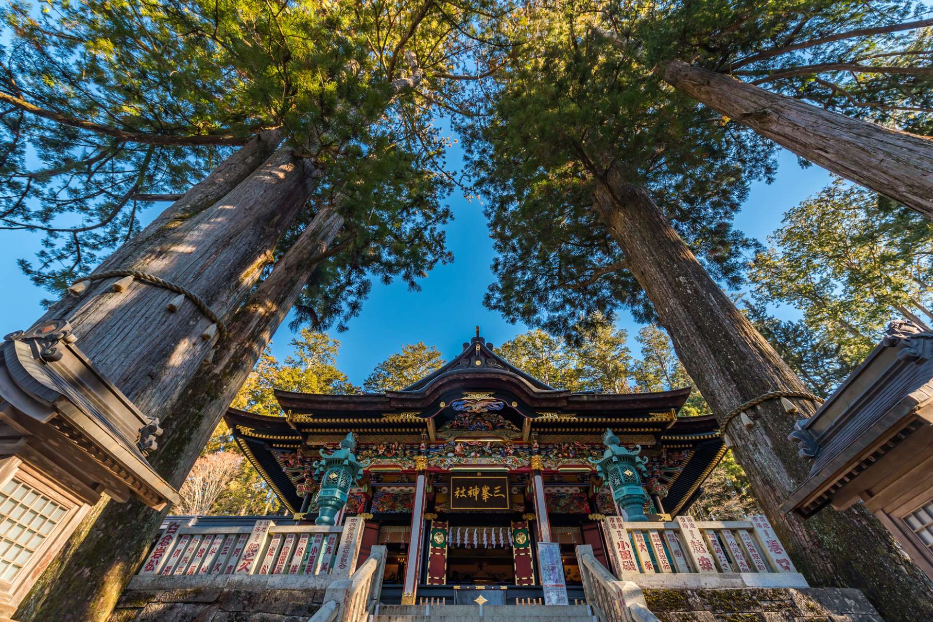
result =
[[586,601],[592,606],[599,622],[660,622],[648,610],[641,587],[632,581],[617,581],[596,560],[592,546],[577,546],[577,563]]

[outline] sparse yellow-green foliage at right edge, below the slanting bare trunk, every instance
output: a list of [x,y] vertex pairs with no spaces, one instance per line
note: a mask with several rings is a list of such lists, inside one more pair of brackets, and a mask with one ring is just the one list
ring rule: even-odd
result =
[[835,179],[789,210],[768,240],[751,264],[754,296],[800,309],[850,368],[888,321],[933,320],[933,225],[919,214]]

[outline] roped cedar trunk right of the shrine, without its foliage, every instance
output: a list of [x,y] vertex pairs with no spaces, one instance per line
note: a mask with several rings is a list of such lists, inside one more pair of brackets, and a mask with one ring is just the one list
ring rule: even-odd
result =
[[[596,210],[619,242],[675,351],[703,397],[722,418],[746,400],[775,389],[805,391],[790,368],[710,278],[641,187],[610,173],[596,190]],[[801,412],[814,404],[795,400]],[[824,510],[802,520],[779,506],[806,475],[787,440],[797,416],[764,402],[726,436],[759,504],[798,570],[816,585],[858,587],[887,622],[933,619],[933,584],[864,505]]]

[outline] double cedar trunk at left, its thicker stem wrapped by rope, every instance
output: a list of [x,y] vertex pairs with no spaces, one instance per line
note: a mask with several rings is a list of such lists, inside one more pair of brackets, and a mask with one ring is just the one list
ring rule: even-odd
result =
[[[222,363],[202,364],[213,344],[201,338],[209,324],[201,311],[186,302],[169,313],[165,305],[174,292],[145,283],[114,294],[107,293],[113,279],[94,282],[82,297],[65,298],[47,314],[68,318],[78,346],[104,375],[144,413],[160,417],[165,432],[150,463],[174,487],[188,475],[306,282],[311,270],[300,273],[294,265],[306,265],[299,260],[308,254],[320,256],[340,228],[332,213],[315,218],[307,235],[293,245],[296,252],[286,253],[256,287],[262,267],[272,261],[275,244],[306,204],[319,173],[311,161],[280,148],[209,208],[180,220],[168,218],[151,235],[151,245],[136,249],[130,254],[132,264],[121,266],[179,283],[206,300],[228,325],[227,338],[218,344],[218,352],[226,351]],[[174,206],[170,210],[178,213]],[[280,309],[283,302],[287,304]],[[104,497],[39,577],[17,619],[106,620],[167,511],[160,514],[137,501],[118,504]]]

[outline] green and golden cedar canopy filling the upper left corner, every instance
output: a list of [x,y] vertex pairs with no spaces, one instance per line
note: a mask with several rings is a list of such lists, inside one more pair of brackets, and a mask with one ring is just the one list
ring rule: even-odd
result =
[[152,200],[277,128],[322,174],[278,255],[323,205],[347,223],[300,320],[353,315],[366,271],[415,287],[450,259],[434,119],[461,90],[482,1],[9,5],[0,227],[46,236],[21,268],[60,292],[131,239]]

